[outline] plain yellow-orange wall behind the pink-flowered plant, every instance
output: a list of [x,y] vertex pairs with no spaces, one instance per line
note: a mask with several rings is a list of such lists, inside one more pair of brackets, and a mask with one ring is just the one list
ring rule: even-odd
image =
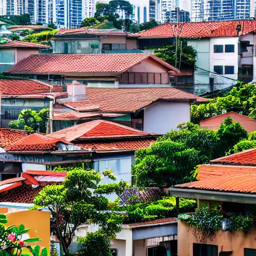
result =
[[24,210],[6,214],[8,218],[7,226],[23,224],[25,228],[30,228],[27,232],[29,238],[40,238],[41,241],[31,242],[30,245],[40,245],[50,248],[50,212],[40,210]]

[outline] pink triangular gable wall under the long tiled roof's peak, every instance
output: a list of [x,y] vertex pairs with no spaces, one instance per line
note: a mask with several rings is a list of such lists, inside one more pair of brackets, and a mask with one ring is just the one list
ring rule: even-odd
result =
[[167,68],[155,60],[147,58],[130,68],[128,72],[166,73]]

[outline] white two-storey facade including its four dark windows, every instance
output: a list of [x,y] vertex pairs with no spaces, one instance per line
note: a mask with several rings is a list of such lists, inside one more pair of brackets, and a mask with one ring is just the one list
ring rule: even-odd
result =
[[209,54],[214,88],[225,88],[236,83],[238,77],[238,37],[210,38]]

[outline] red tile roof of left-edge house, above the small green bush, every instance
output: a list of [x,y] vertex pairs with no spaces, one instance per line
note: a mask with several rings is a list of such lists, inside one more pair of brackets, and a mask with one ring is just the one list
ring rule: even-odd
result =
[[0,79],[2,95],[25,95],[54,91],[54,86],[32,79]]

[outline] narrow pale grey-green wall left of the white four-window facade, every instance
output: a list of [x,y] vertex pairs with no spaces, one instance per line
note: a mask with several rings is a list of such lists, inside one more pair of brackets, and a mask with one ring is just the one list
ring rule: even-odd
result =
[[[188,40],[187,45],[193,46],[197,51],[197,60],[195,65],[198,69],[195,70],[195,92],[200,94],[209,90],[209,38],[201,38],[196,40]],[[201,70],[202,68],[204,70]]]

